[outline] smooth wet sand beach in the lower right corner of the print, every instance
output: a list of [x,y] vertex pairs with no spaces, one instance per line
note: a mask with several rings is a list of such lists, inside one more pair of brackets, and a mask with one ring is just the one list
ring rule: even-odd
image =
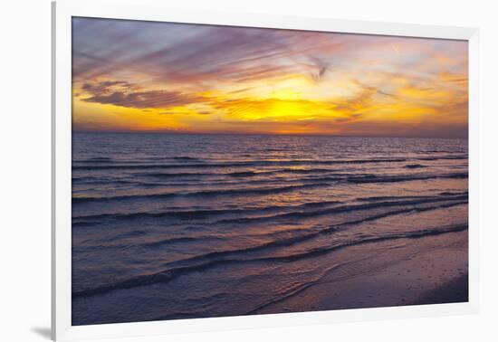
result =
[[[467,301],[467,234],[465,230],[344,249],[330,255],[330,261],[345,262],[322,280],[254,313]],[[355,260],[348,261],[351,255]]]

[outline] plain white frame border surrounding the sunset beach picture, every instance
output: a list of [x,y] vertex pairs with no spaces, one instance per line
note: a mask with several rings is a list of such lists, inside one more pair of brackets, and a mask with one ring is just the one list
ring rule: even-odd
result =
[[[157,336],[168,333],[218,331],[327,324],[388,318],[420,318],[478,312],[479,303],[479,33],[475,28],[373,23],[268,14],[224,13],[168,8],[160,0],[101,0],[53,3],[52,58],[52,338],[74,340]],[[375,309],[346,309],[226,318],[71,325],[71,198],[72,198],[72,16],[148,20],[190,24],[222,24],[336,33],[365,33],[469,42],[469,302]],[[55,72],[57,67],[57,72]]]

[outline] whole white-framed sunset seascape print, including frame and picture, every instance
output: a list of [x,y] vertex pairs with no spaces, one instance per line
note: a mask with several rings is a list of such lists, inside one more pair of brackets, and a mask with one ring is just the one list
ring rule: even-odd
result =
[[53,338],[476,312],[477,34],[54,3]]

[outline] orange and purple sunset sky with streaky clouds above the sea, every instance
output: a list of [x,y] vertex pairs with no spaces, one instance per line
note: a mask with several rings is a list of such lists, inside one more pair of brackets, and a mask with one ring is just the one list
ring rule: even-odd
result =
[[73,18],[73,129],[467,137],[464,41]]

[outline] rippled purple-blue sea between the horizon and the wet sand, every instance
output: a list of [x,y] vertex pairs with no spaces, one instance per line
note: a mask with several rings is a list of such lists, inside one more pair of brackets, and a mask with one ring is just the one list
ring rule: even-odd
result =
[[338,249],[467,224],[467,140],[74,133],[72,153],[74,325],[257,313]]

